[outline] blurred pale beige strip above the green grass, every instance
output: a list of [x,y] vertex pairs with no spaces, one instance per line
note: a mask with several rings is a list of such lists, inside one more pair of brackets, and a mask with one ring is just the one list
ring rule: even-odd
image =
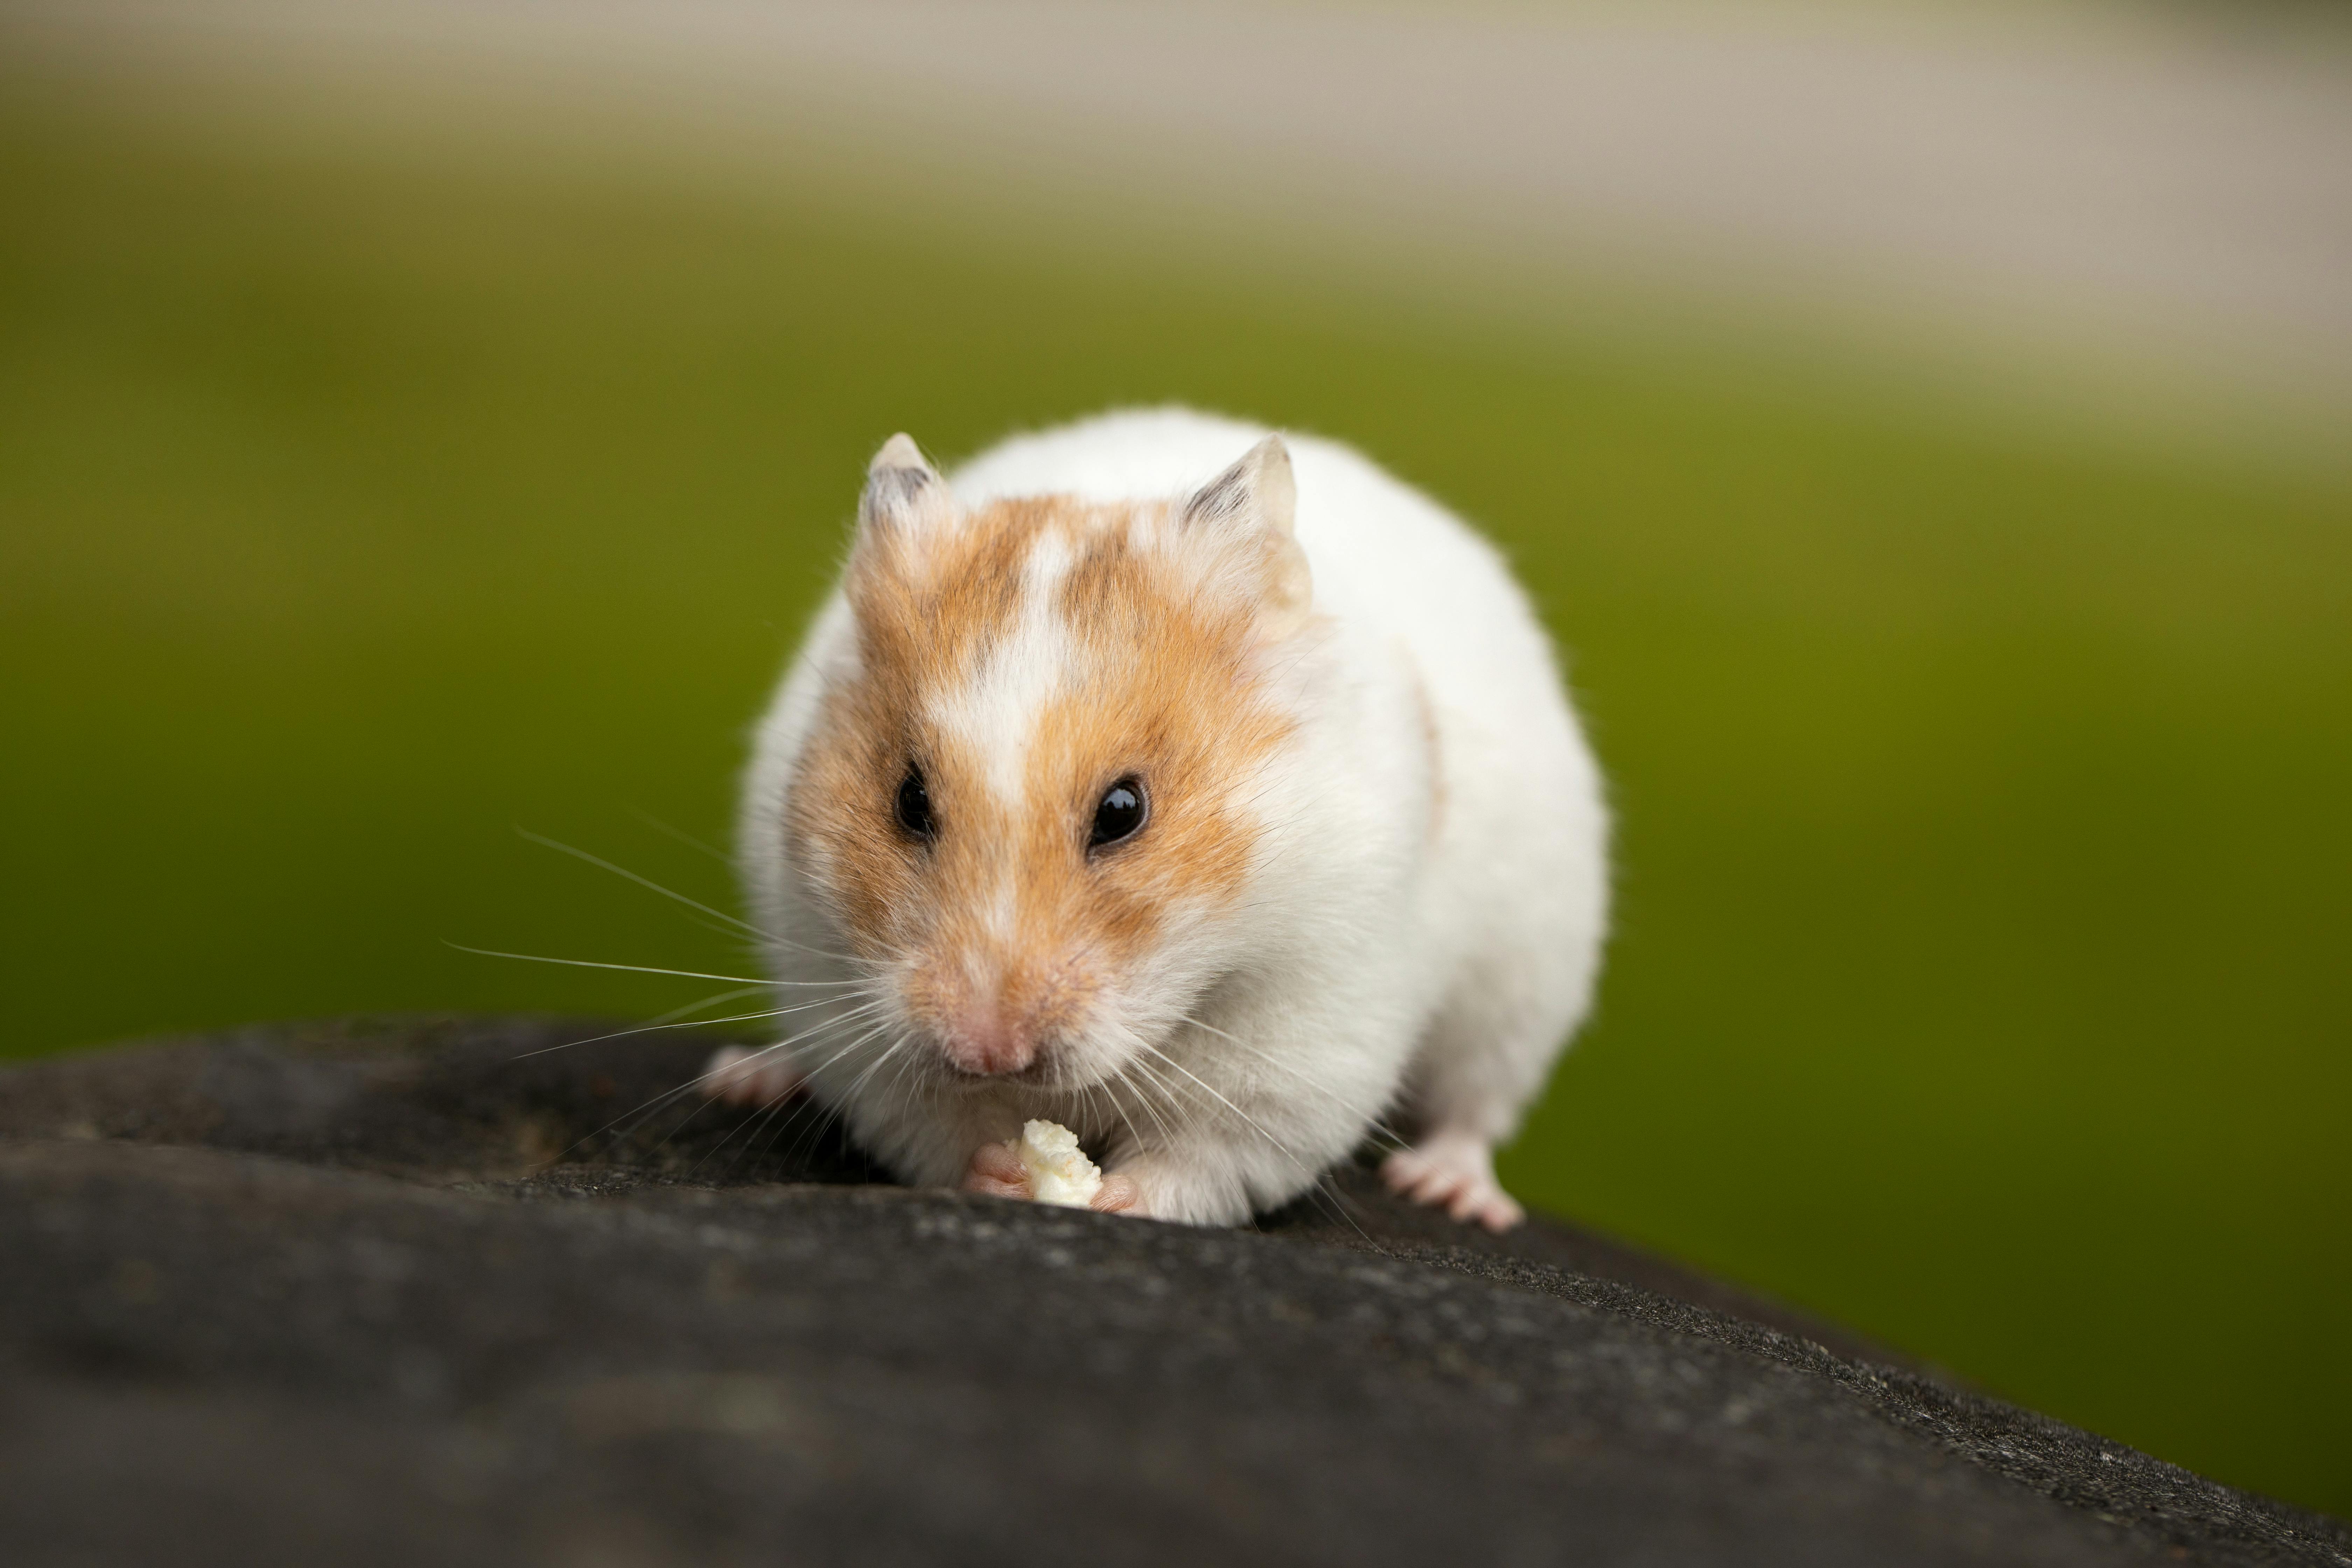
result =
[[[1056,181],[1338,247],[2352,393],[2352,47],[2232,7],[64,0],[21,40],[811,125],[967,197]],[[2267,31],[2265,31],[2267,19]],[[447,96],[430,101],[445,113]],[[974,188],[978,181],[978,188]],[[997,188],[990,188],[997,186]],[[915,195],[920,186],[910,188]],[[1541,287],[1541,284],[1538,284]],[[2333,418],[2326,421],[2333,433]]]

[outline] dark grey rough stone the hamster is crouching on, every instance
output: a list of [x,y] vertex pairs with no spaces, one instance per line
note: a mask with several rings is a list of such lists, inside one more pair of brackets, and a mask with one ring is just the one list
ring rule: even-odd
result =
[[1562,1225],[908,1192],[588,1032],[0,1074],[7,1561],[2352,1563]]

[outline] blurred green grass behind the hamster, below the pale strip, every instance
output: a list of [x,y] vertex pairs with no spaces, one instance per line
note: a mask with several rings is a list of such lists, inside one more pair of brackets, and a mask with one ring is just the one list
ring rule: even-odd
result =
[[1188,400],[1458,503],[1573,651],[1623,919],[1519,1192],[2352,1512],[2352,484],[790,179],[31,94],[0,190],[5,1051],[687,1001],[442,938],[743,964],[513,825],[727,903],[663,827],[875,442]]

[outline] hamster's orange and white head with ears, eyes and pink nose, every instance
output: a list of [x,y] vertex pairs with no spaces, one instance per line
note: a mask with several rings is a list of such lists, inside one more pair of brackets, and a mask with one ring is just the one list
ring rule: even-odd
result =
[[1279,437],[1122,503],[967,508],[875,456],[783,837],[915,1072],[1103,1081],[1237,961],[1312,637],[1291,508]]

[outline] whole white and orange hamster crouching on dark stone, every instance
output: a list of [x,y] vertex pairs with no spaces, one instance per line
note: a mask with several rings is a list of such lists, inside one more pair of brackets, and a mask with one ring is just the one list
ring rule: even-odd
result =
[[1388,1182],[1503,1229],[1606,842],[1501,555],[1348,447],[1124,411],[941,477],[894,435],[743,788],[790,1027],[703,1088],[1016,1197],[1058,1121],[1096,1208],[1200,1225],[1395,1119]]

